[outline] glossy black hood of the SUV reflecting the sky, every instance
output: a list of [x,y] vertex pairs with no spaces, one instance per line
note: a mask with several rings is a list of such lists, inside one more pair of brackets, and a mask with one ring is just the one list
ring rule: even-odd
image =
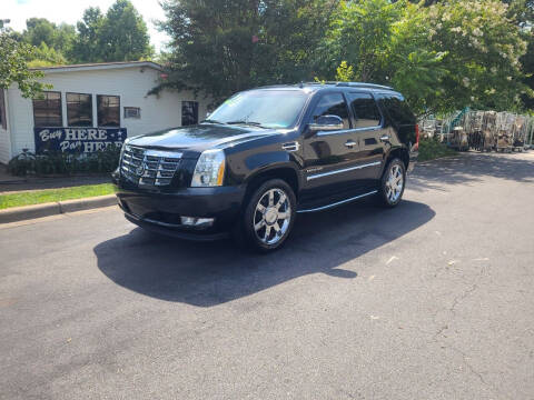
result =
[[225,148],[239,142],[276,133],[256,127],[202,123],[180,127],[134,137],[128,144],[165,150],[190,150],[201,152],[212,148]]

